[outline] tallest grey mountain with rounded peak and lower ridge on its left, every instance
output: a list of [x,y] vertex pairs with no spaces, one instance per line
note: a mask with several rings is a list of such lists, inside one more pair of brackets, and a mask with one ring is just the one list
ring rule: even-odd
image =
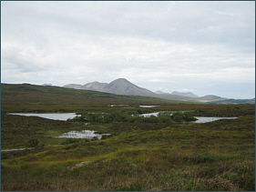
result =
[[86,89],[93,91],[106,92],[118,95],[133,95],[133,96],[154,96],[155,94],[146,88],[141,88],[130,83],[125,78],[118,78],[109,84],[99,83],[97,81],[88,83],[84,86],[76,84],[68,84],[64,86],[66,88]]

